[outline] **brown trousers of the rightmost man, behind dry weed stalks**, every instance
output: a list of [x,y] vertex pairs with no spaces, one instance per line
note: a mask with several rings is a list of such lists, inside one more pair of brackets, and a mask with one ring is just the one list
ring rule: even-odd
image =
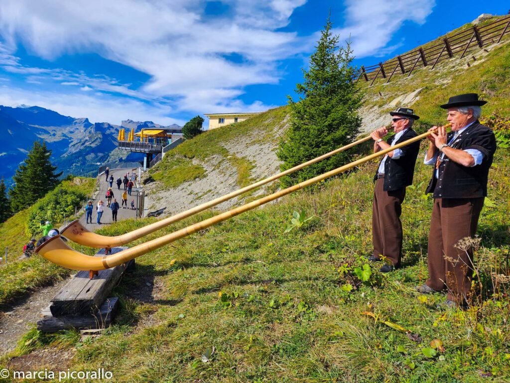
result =
[[471,289],[473,251],[457,249],[464,237],[474,237],[483,207],[481,198],[437,198],[428,235],[427,286],[448,290],[448,299],[464,303]]

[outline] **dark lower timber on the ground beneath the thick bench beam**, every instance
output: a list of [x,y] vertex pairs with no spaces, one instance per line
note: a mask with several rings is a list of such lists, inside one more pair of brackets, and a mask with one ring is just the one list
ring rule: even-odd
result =
[[[43,332],[56,332],[59,330],[77,329],[98,329],[108,327],[117,313],[118,298],[108,298],[95,313],[85,316],[54,317],[44,316],[37,321],[37,329]],[[43,314],[45,312],[43,311]]]

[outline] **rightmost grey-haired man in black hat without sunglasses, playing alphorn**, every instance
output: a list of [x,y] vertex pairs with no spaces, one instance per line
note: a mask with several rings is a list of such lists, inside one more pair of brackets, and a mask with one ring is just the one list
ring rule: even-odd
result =
[[434,204],[428,236],[428,274],[417,290],[432,293],[447,290],[448,306],[467,303],[471,289],[473,254],[471,248],[455,247],[464,237],[476,233],[478,218],[487,196],[487,180],[496,138],[481,125],[478,94],[451,97],[441,108],[448,110],[451,132],[444,127],[429,136],[425,164],[435,165],[426,193],[433,193]]

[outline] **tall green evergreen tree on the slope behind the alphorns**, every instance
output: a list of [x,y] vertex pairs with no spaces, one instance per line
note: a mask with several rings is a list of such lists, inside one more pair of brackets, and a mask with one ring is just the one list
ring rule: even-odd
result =
[[[339,36],[331,34],[327,19],[324,30],[310,57],[310,68],[303,69],[303,83],[297,84],[299,101],[289,98],[290,127],[279,143],[277,156],[285,171],[334,149],[347,145],[359,134],[358,109],[363,94],[355,84],[355,68],[350,42],[338,46]],[[348,162],[344,153],[305,167],[281,179],[289,186]]]

